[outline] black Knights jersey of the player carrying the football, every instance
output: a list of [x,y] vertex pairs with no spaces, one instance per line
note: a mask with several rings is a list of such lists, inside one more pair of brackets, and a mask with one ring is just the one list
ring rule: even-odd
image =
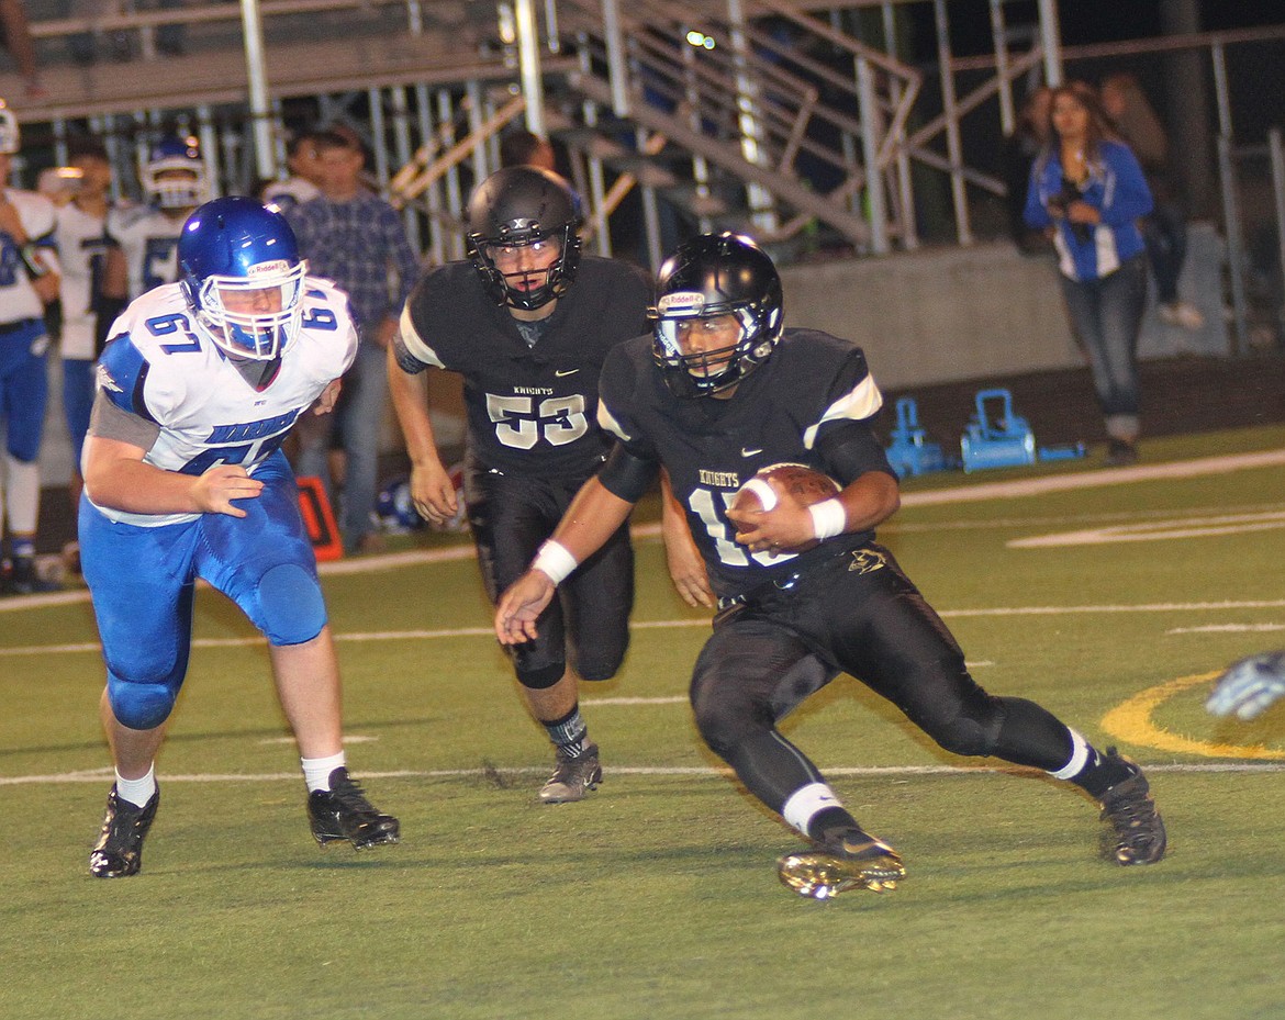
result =
[[[772,464],[807,464],[840,484],[865,471],[893,474],[870,426],[883,397],[865,355],[852,343],[788,329],[772,356],[740,382],[730,400],[685,400],[666,387],[650,338],[639,338],[608,358],[601,389],[600,424],[631,452],[668,470],[720,596],[744,594],[833,554],[840,543],[856,547],[874,537],[853,532],[801,556],[772,556],[738,545],[736,527],[726,515],[736,489]],[[844,428],[848,444],[847,469],[826,462],[821,442],[838,428]]]

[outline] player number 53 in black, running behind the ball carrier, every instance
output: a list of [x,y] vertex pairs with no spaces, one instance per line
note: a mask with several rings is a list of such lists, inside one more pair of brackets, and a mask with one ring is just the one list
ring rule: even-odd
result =
[[[556,173],[532,166],[492,173],[472,195],[468,221],[470,261],[415,286],[388,376],[411,498],[437,523],[457,505],[420,373],[464,376],[464,502],[495,600],[601,466],[610,438],[598,426],[598,376],[613,346],[646,330],[650,294],[632,268],[581,257],[580,203]],[[541,618],[540,638],[514,649],[527,705],[555,746],[545,803],[581,800],[603,775],[580,714],[578,677],[610,678],[628,646],[634,551],[623,519],[601,545]]]

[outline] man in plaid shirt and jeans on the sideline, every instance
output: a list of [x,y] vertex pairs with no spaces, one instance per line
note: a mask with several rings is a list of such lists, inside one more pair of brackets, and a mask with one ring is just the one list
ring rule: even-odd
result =
[[[361,182],[365,153],[346,134],[315,136],[321,197],[290,215],[299,251],[317,276],[334,280],[352,302],[361,346],[343,376],[335,414],[302,420],[297,473],[330,479],[330,433],[338,428],[347,461],[339,532],[347,552],[373,550],[371,511],[379,486],[379,434],[388,401],[384,351],[397,331],[419,258],[397,211]],[[334,419],[338,419],[335,421]],[[335,486],[328,486],[332,497]]]

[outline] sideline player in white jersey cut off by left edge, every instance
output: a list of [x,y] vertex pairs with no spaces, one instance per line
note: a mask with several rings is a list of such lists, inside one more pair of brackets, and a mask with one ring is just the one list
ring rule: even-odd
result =
[[9,534],[10,568],[0,590],[27,595],[46,587],[36,577],[40,516],[40,441],[49,396],[45,306],[58,297],[54,203],[5,188],[21,145],[18,118],[0,99],[0,430],[5,433],[0,522]]

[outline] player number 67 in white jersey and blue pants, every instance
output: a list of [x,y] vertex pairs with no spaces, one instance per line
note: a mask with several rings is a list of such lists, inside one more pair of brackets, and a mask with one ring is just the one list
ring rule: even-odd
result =
[[159,790],[153,761],[188,667],[199,579],[263,633],[298,743],[319,844],[398,839],[346,768],[339,671],[281,441],[334,407],[357,334],[348,302],[306,276],[289,224],[251,198],[197,209],[180,283],[135,298],[99,360],[85,443],[81,565],[107,663],[116,766],[98,877],[134,875]]

